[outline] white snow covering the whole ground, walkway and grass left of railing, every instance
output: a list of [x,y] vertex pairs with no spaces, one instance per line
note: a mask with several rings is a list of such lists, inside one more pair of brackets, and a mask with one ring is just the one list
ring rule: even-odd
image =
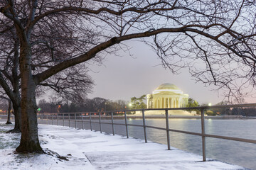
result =
[[[77,130],[56,125],[39,125],[41,147],[48,154],[17,154],[20,135],[6,134],[12,125],[0,123],[0,169],[243,169],[166,145],[144,140]],[[58,155],[68,160],[60,159]]]

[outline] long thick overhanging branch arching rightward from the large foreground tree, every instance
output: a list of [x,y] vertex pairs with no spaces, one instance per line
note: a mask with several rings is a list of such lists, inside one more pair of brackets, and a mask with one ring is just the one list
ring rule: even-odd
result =
[[[59,64],[56,64],[55,66],[51,67],[50,69],[47,69],[46,71],[37,74],[34,78],[36,81],[36,84],[40,83],[43,80],[48,79],[51,77],[53,74],[56,74],[63,69],[66,69],[68,67],[72,67],[76,64],[80,64],[82,62],[86,62],[87,60],[92,59],[97,55],[98,52],[101,52],[102,50],[107,49],[108,47],[111,47],[112,45],[118,44],[119,42],[122,42],[124,40],[131,40],[135,38],[146,38],[150,37],[152,35],[157,35],[160,33],[186,33],[186,32],[192,32],[192,33],[197,33],[198,35],[203,35],[206,38],[210,38],[211,40],[215,40],[218,42],[220,45],[223,45],[226,47],[228,50],[231,50],[234,52],[236,55],[241,57],[241,54],[239,52],[236,52],[233,48],[230,48],[229,45],[227,45],[225,42],[222,42],[218,38],[216,38],[213,35],[210,35],[208,33],[203,32],[203,30],[196,29],[197,25],[189,25],[189,26],[183,26],[181,28],[161,28],[157,30],[151,30],[151,31],[146,31],[144,33],[134,33],[134,34],[129,34],[129,35],[123,35],[120,37],[114,37],[111,38],[110,40],[107,40],[106,42],[102,42],[100,45],[97,45],[96,47],[93,47],[91,50],[86,52],[83,55],[80,55],[78,57],[72,58],[70,60],[65,60],[64,62],[61,62]],[[193,27],[193,28],[190,28]],[[209,27],[209,26],[208,26]],[[198,26],[198,28],[203,28],[203,26]],[[247,57],[250,60],[254,60],[251,57],[248,56],[243,56],[242,57]]]

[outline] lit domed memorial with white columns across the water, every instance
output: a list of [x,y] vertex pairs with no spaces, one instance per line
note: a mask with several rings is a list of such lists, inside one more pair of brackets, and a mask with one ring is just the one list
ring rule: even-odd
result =
[[147,108],[182,108],[188,104],[188,94],[174,84],[161,84],[146,99]]

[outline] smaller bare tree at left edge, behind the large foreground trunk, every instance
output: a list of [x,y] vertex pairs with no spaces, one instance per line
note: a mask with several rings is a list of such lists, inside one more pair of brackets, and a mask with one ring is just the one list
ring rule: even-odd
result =
[[[0,20],[1,21],[1,20]],[[3,22],[3,21],[1,21]],[[20,76],[18,69],[18,38],[9,23],[4,25],[0,38],[0,86],[10,98],[14,108],[15,125],[10,132],[20,132],[21,125],[21,95]]]

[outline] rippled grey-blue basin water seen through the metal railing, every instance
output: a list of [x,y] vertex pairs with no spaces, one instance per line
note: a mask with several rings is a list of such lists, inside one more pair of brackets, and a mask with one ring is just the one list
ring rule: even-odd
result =
[[[92,120],[97,121],[97,120]],[[111,123],[111,120],[101,120],[102,123]],[[39,120],[39,123],[40,120]],[[44,122],[45,123],[45,122]],[[49,124],[52,122],[50,121]],[[53,120],[53,124],[56,121]],[[62,124],[59,120],[59,125]],[[114,123],[123,123],[124,120],[114,119]],[[142,119],[127,119],[128,124],[143,125]],[[65,120],[65,125],[68,125]],[[90,129],[87,120],[83,122],[84,128]],[[206,119],[206,134],[223,135],[228,137],[240,137],[256,140],[256,119]],[[146,125],[155,127],[166,127],[165,119],[146,119]],[[75,123],[70,121],[70,126],[75,127]],[[77,128],[82,128],[81,122],[76,123]],[[185,130],[190,132],[201,132],[200,119],[170,119],[169,128],[175,130]],[[100,130],[99,123],[92,123],[93,130]],[[129,126],[129,137],[144,139],[142,127]],[[102,131],[112,134],[112,125],[102,124]],[[114,125],[114,132],[118,135],[126,135],[124,125]],[[167,144],[166,131],[146,128],[147,140]],[[178,132],[170,132],[171,147],[183,149],[188,152],[202,155],[202,137],[186,135]],[[100,144],[99,144],[100,145]],[[167,147],[166,147],[167,149]],[[256,169],[256,145],[246,142],[236,142],[231,140],[220,140],[206,137],[206,157],[208,159],[218,159],[230,164],[238,164],[248,169]]]

